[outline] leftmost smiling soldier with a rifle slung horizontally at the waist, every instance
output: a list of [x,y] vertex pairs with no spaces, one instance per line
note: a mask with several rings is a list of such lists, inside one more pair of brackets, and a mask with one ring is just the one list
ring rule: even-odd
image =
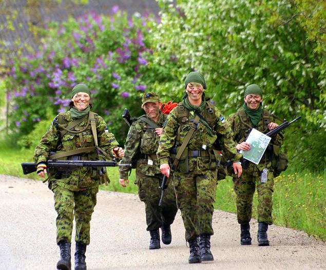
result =
[[[47,172],[46,161],[51,155],[50,152],[56,152],[62,159],[101,159],[94,147],[90,125],[92,118],[96,121],[98,146],[110,153],[112,158],[123,156],[123,149],[118,147],[113,134],[107,132],[106,124],[100,115],[90,111],[91,106],[88,87],[84,84],[74,86],[71,91],[70,110],[54,118],[49,130],[35,148],[34,161],[37,163],[37,174],[44,177],[45,173],[48,173],[49,188],[54,192],[54,208],[57,212],[56,242],[60,246],[61,254],[57,269],[71,268],[73,217],[76,223],[75,269],[86,269],[86,245],[90,242],[90,220],[97,203],[100,175],[98,169],[91,167],[80,167],[62,173],[52,169]],[[73,127],[70,129],[69,125]],[[83,148],[88,148],[88,151],[81,150],[79,155],[66,156],[69,152]]]

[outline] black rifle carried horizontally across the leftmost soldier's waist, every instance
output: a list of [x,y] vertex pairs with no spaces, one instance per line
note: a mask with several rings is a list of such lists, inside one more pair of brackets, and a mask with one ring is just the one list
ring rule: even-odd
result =
[[[115,167],[115,166],[131,166],[131,164],[118,164],[115,161],[103,160],[48,160],[46,162],[48,168],[55,168],[57,171],[70,171],[76,167]],[[24,175],[36,171],[37,164],[33,162],[22,163]]]

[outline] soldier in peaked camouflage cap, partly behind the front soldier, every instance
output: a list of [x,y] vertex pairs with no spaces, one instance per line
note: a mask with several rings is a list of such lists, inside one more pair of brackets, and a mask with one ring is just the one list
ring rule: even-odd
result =
[[[135,184],[138,186],[140,200],[145,203],[147,230],[150,233],[149,249],[157,249],[161,248],[160,227],[162,242],[167,245],[171,243],[170,225],[175,219],[178,208],[172,186],[166,189],[162,205],[159,207],[160,189],[158,187],[163,176],[156,151],[166,114],[160,112],[160,100],[154,92],[144,93],[142,103],[146,115],[130,126],[122,163],[131,163],[131,160],[136,162]],[[120,185],[126,187],[131,168],[120,167],[119,170]]]

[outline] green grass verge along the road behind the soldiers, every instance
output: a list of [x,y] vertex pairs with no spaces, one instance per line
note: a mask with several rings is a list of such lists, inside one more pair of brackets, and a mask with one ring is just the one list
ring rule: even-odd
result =
[[[31,162],[32,150],[20,150],[0,142],[0,174],[39,179],[36,173],[23,175],[21,162]],[[131,192],[137,194],[135,171],[129,177],[126,188],[119,185],[118,168],[107,168],[111,183],[102,185],[103,190]],[[292,168],[293,169],[293,168]],[[326,240],[326,170],[322,174],[311,172],[283,173],[275,179],[273,194],[274,223],[281,226],[304,230],[311,236]],[[236,212],[232,179],[219,181],[215,208]],[[257,192],[254,196],[253,217],[257,218]]]

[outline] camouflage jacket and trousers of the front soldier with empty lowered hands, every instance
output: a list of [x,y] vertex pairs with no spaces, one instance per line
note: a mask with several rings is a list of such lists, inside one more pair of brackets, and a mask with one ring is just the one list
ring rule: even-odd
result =
[[[180,117],[180,106],[186,110],[186,117]],[[191,137],[188,147],[188,171],[184,171],[184,162],[180,160],[174,171],[173,185],[175,186],[177,205],[181,210],[185,238],[187,241],[195,239],[200,234],[213,235],[212,218],[216,196],[216,162],[213,161],[213,145],[218,139],[222,150],[230,160],[239,160],[240,156],[235,149],[231,129],[223,122],[221,113],[213,105],[206,102],[202,116],[212,127],[214,135],[210,136],[207,128],[199,122],[197,130]],[[207,115],[210,115],[210,122]],[[160,164],[169,161],[170,149],[180,146],[195,117],[181,103],[172,109],[167,117],[164,132],[160,138],[158,158]],[[178,132],[180,130],[180,133]],[[179,135],[178,135],[179,133]],[[206,145],[206,150],[202,146]],[[204,155],[204,152],[206,155]],[[193,155],[198,153],[198,155]]]

